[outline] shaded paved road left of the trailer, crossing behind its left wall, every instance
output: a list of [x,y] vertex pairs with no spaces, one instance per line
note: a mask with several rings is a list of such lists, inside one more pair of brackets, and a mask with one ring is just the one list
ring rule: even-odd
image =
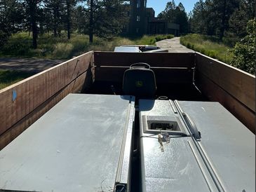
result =
[[0,58],[0,69],[39,73],[64,60]]

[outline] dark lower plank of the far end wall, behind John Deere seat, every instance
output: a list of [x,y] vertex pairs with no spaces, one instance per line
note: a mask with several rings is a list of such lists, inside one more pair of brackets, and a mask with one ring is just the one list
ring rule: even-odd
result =
[[[95,81],[123,82],[123,73],[128,67],[95,67]],[[156,83],[193,83],[190,69],[152,68]]]

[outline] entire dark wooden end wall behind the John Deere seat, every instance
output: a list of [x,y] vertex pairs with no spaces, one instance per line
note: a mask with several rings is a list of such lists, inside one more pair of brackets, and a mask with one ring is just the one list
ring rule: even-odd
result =
[[130,64],[145,62],[156,83],[192,83],[194,53],[113,53],[95,51],[95,81],[123,81]]

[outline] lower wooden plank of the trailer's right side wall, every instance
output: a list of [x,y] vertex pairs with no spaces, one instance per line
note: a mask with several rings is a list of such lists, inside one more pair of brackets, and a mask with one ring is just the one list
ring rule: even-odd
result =
[[196,85],[210,101],[220,102],[220,104],[236,116],[250,131],[255,133],[254,111],[250,110],[201,72],[196,72]]

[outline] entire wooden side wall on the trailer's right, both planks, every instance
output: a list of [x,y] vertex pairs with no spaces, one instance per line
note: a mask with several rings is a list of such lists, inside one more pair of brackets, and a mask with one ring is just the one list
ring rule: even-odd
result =
[[208,100],[220,102],[255,133],[255,76],[196,53],[195,81]]

